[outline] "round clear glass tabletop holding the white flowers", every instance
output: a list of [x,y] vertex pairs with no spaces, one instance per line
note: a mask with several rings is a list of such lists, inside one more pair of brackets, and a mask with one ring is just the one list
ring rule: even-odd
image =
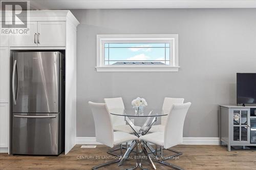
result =
[[127,117],[159,117],[168,115],[168,111],[162,109],[144,108],[143,113],[135,113],[135,109],[111,109],[110,114]]

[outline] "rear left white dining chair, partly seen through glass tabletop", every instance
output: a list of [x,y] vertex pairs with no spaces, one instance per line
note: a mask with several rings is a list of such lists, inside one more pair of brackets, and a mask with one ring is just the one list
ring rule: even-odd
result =
[[[108,107],[109,111],[124,111],[124,105],[122,98],[105,98],[104,102],[106,103],[106,106]],[[111,115],[114,131],[121,131],[126,133],[134,133],[130,125],[126,125],[125,117],[124,116],[117,116],[117,115]],[[137,130],[140,130],[141,127],[135,126]]]

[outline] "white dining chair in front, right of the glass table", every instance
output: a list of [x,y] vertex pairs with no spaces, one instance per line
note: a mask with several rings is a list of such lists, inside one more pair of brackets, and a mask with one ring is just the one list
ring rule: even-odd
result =
[[[159,163],[175,169],[182,169],[177,165],[165,162],[165,160],[182,155],[181,152],[169,148],[183,142],[183,125],[190,105],[190,102],[184,104],[173,104],[172,108],[170,108],[170,113],[167,116],[163,132],[150,133],[139,137],[140,142],[150,142],[156,145],[154,155]],[[160,146],[160,158],[157,153],[158,146]],[[175,152],[176,154],[165,158],[163,157],[163,148]]]

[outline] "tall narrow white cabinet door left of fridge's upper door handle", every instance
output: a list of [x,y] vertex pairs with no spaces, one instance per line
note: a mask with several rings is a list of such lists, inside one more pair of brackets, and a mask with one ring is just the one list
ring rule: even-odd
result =
[[0,103],[8,103],[9,93],[8,47],[0,47]]

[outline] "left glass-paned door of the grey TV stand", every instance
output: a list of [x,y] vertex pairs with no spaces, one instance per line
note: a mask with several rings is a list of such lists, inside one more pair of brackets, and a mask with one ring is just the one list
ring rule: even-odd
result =
[[232,143],[249,143],[249,109],[231,109]]

